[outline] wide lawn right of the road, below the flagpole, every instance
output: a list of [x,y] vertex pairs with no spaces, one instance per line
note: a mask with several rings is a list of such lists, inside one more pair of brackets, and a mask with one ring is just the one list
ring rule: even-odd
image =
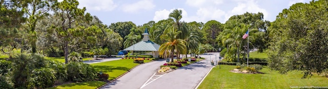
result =
[[327,86],[328,79],[314,75],[301,79],[301,72],[293,71],[279,74],[263,66],[260,72],[265,74],[238,74],[229,72],[235,65],[221,65],[212,69],[198,88],[291,88],[291,86]]

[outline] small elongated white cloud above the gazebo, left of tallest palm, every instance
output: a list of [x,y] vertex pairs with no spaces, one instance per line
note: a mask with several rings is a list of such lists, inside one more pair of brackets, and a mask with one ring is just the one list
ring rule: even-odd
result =
[[152,0],[141,0],[134,4],[127,4],[122,7],[124,12],[136,13],[139,10],[151,10],[155,8]]

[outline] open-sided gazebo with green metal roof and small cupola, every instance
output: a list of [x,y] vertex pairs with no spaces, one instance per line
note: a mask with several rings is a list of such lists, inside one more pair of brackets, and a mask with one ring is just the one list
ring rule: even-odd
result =
[[154,58],[159,57],[159,52],[158,52],[159,45],[149,40],[148,30],[145,29],[145,32],[142,33],[142,35],[144,35],[144,38],[142,38],[140,42],[137,42],[124,50],[132,51],[132,55],[134,51],[147,51],[147,52],[152,52]]

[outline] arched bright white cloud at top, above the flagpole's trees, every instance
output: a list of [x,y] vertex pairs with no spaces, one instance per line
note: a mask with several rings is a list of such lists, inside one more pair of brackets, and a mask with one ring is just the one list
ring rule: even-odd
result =
[[238,2],[237,6],[234,7],[231,11],[228,11],[228,13],[225,15],[224,21],[227,21],[233,15],[240,15],[246,12],[250,12],[250,13],[262,12],[264,15],[264,19],[268,19],[267,17],[270,16],[267,10],[260,8],[257,5],[257,2],[255,2],[254,0],[250,0],[250,1]]

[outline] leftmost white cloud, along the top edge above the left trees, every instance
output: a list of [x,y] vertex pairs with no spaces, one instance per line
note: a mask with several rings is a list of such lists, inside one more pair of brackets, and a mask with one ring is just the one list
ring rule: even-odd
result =
[[78,0],[78,3],[78,8],[86,7],[88,11],[112,11],[117,7],[113,0]]

